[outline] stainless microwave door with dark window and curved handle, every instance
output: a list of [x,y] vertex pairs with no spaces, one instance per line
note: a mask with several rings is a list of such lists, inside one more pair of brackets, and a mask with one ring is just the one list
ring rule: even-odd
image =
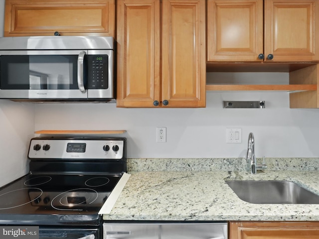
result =
[[87,98],[87,53],[83,50],[0,51],[0,98]]

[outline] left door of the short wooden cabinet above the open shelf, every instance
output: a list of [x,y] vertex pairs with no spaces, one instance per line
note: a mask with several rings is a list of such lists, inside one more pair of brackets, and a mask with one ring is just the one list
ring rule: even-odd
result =
[[262,61],[263,0],[207,0],[207,36],[208,61]]

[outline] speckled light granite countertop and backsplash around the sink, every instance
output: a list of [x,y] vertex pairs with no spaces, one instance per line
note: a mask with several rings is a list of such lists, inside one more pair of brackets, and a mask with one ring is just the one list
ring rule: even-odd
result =
[[[223,159],[225,160],[225,159]],[[131,177],[118,198],[110,214],[104,220],[186,220],[186,221],[319,221],[318,205],[301,204],[251,204],[242,201],[225,183],[225,180],[289,180],[319,194],[318,159],[296,159],[296,165],[282,171],[276,165],[291,167],[295,159],[274,159],[273,171],[268,170],[251,175],[248,170],[232,167],[216,170],[207,167],[205,160],[176,160],[179,167],[167,166],[156,171],[152,163],[140,169],[148,171],[129,171]],[[143,160],[142,160],[143,161]],[[151,162],[152,160],[150,160]],[[174,161],[174,160],[173,160]],[[210,163],[209,160],[206,160]],[[227,161],[227,160],[226,160]],[[247,165],[245,159],[228,160],[233,164]],[[303,162],[300,165],[300,162]],[[201,162],[201,163],[199,163]],[[267,161],[266,161],[267,162]],[[134,163],[133,163],[134,164]],[[129,168],[134,168],[131,162]],[[176,165],[169,161],[168,164]],[[202,164],[200,169],[199,164]],[[217,163],[218,164],[218,163]],[[133,166],[132,166],[133,165]],[[197,165],[197,166],[195,166]],[[219,166],[218,166],[219,167]],[[229,168],[228,167],[228,168]],[[245,166],[244,166],[245,167]],[[275,171],[281,169],[281,171]],[[282,166],[284,167],[284,166]],[[196,168],[196,170],[192,170]],[[270,167],[271,168],[271,167]],[[308,168],[307,170],[305,168]],[[180,169],[180,170],[178,170]]]

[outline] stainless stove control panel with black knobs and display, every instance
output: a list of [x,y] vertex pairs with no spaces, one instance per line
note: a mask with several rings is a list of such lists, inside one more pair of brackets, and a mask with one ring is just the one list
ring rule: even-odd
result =
[[30,141],[30,159],[122,159],[125,138],[45,138]]

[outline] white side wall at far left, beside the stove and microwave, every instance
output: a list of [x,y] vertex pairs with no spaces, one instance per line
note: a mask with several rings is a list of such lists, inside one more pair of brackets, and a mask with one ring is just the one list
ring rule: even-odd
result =
[[[0,37],[3,36],[4,0],[0,0]],[[0,100],[0,186],[28,171],[27,150],[34,135],[34,106]]]

